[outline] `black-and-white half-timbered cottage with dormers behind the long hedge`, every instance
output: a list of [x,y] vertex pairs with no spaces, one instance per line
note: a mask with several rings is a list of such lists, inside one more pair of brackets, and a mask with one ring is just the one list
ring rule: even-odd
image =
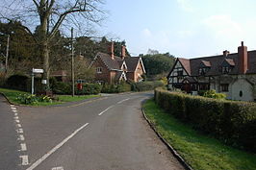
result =
[[256,50],[238,47],[238,53],[223,51],[222,55],[195,59],[178,58],[168,76],[170,89],[180,88],[196,94],[215,89],[227,99],[256,100]]

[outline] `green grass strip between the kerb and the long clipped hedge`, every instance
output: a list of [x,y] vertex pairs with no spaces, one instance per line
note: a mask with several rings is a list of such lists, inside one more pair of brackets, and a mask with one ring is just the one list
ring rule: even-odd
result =
[[192,130],[191,126],[181,123],[158,107],[153,99],[146,101],[143,109],[157,131],[193,169],[256,169],[255,154],[226,146],[215,138]]

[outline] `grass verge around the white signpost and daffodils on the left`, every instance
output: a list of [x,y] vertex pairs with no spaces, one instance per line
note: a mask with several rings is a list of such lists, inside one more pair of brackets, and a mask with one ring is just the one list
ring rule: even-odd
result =
[[[0,93],[4,93],[13,104],[17,104],[17,105],[24,105],[24,104],[21,104],[20,101],[16,99],[19,94],[29,94],[28,92],[7,89],[7,88],[0,88]],[[55,95],[55,98],[58,100],[53,100],[52,103],[39,102],[38,104],[35,104],[33,106],[59,105],[66,102],[76,102],[76,101],[81,101],[85,99],[90,99],[93,97],[99,97],[99,95],[81,95],[81,96],[74,96],[74,97],[70,95]]]

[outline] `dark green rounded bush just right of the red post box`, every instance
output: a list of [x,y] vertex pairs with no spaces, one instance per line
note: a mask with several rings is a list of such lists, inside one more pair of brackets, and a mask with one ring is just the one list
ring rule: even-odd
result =
[[79,90],[76,88],[75,93],[78,95],[90,95],[98,94],[101,91],[102,86],[99,84],[84,84],[83,89]]

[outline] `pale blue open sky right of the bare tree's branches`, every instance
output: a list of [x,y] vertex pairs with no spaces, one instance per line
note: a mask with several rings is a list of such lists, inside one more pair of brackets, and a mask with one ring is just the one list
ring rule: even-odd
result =
[[193,58],[256,50],[255,0],[106,0],[100,33],[126,40],[133,56],[148,49]]

